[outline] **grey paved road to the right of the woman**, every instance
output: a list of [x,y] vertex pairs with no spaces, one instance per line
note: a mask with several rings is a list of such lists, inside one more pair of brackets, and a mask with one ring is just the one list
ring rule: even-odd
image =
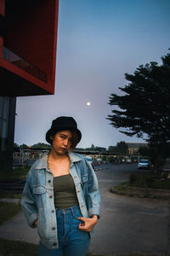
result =
[[[169,202],[114,195],[113,185],[126,181],[136,164],[99,166],[101,214],[89,251],[120,253],[170,253]],[[145,171],[144,171],[145,172]]]

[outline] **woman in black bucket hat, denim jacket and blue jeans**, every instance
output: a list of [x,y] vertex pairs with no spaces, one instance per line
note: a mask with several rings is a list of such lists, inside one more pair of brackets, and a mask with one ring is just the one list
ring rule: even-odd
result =
[[92,166],[72,151],[82,138],[72,117],[54,119],[46,133],[52,145],[28,173],[21,206],[37,227],[38,256],[85,256],[100,217],[100,196]]

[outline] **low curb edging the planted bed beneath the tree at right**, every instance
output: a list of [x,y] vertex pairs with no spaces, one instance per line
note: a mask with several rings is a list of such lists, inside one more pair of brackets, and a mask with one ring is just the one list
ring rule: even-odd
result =
[[156,198],[170,200],[170,190],[167,189],[147,189],[137,187],[126,187],[127,190],[118,190],[112,187],[111,193],[116,195],[135,196],[139,198]]

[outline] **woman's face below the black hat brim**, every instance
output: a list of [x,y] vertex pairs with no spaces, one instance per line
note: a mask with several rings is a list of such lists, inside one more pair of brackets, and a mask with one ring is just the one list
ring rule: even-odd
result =
[[72,133],[71,131],[58,131],[54,137],[50,137],[53,140],[52,148],[55,154],[66,154],[72,145]]

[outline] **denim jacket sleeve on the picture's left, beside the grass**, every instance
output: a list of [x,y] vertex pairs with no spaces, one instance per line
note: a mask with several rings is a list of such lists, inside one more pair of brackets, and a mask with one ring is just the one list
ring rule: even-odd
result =
[[35,220],[37,219],[37,206],[34,200],[34,195],[32,193],[32,168],[28,173],[26,184],[23,189],[23,195],[20,201],[23,213],[26,217],[27,223],[31,228],[36,228],[37,226],[34,224]]

